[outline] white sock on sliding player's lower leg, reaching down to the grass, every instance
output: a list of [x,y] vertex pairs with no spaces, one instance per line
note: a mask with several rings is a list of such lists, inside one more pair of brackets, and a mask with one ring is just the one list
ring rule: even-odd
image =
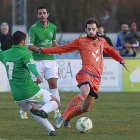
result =
[[42,126],[44,126],[49,132],[50,131],[55,131],[54,127],[51,125],[51,123],[47,119],[38,117],[38,116],[33,115],[33,114],[32,114],[32,116],[34,117],[34,119],[37,122],[39,122]]

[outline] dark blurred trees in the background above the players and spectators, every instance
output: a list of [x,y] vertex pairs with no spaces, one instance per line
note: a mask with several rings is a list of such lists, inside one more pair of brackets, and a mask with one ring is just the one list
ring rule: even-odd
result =
[[[84,22],[94,17],[106,32],[119,32],[123,22],[137,23],[140,30],[139,0],[28,0],[27,28],[36,21],[36,9],[46,5],[49,20],[58,32],[84,32]],[[0,0],[0,21],[12,24],[12,0]]]

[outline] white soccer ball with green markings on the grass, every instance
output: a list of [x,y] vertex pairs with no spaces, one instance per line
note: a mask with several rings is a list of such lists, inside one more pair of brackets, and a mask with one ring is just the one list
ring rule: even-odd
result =
[[88,117],[82,117],[77,121],[76,128],[80,133],[88,133],[93,128],[92,121]]

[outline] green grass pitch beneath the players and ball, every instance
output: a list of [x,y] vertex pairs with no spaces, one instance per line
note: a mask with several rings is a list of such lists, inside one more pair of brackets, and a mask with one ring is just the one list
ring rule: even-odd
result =
[[[60,93],[61,111],[77,93]],[[49,137],[47,130],[36,122],[28,112],[28,120],[21,120],[19,107],[10,93],[0,93],[0,140],[139,140],[140,139],[140,93],[99,93],[90,112],[75,117],[72,128],[62,126],[56,137]],[[54,112],[49,114],[52,124]],[[88,134],[78,133],[75,124],[87,116],[93,122]]]

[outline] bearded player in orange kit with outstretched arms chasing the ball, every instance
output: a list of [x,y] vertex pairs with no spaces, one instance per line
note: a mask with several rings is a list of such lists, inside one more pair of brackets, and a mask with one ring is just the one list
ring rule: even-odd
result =
[[[70,120],[84,112],[88,112],[95,99],[98,98],[98,90],[104,66],[103,51],[116,61],[120,62],[127,71],[124,59],[110,47],[104,38],[97,37],[98,21],[90,18],[85,22],[87,36],[79,37],[72,43],[59,47],[40,48],[43,53],[56,54],[79,50],[82,59],[82,69],[77,73],[76,80],[80,93],[69,103],[65,112],[56,121],[55,127],[60,128],[64,122],[66,128],[71,128]],[[81,102],[82,105],[81,105]]]

